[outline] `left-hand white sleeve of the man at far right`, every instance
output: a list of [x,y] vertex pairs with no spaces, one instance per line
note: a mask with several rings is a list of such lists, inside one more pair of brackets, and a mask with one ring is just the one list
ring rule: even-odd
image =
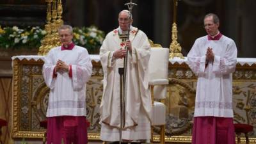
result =
[[188,53],[188,65],[196,76],[205,74],[205,58],[205,54],[200,56],[200,47],[198,46],[198,40],[196,40]]

